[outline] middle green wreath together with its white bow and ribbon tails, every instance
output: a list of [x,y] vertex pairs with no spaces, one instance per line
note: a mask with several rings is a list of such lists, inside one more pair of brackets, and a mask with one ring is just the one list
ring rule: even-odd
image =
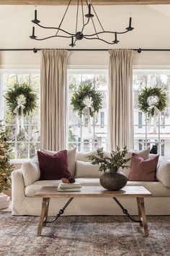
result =
[[90,117],[93,117],[102,108],[102,95],[91,87],[91,84],[79,85],[78,90],[71,98],[73,111],[78,111],[79,116],[84,115],[84,125],[88,125],[91,132]]

